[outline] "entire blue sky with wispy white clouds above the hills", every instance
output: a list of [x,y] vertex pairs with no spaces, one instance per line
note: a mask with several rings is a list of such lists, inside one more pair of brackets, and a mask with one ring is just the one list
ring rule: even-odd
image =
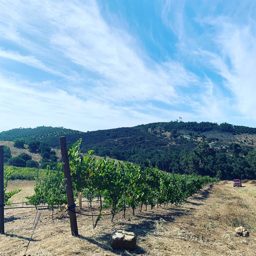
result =
[[0,131],[256,126],[256,1],[1,1]]

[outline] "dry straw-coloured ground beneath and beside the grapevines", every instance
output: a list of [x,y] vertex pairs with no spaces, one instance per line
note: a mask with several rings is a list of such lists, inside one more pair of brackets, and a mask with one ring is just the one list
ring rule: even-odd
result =
[[[242,188],[233,188],[231,182],[209,185],[182,206],[147,211],[144,208],[142,213],[136,211],[135,216],[129,210],[126,219],[119,213],[113,223],[110,216],[103,216],[95,230],[91,217],[78,215],[79,238],[70,235],[67,216],[56,211],[51,219],[51,210],[44,210],[27,255],[255,256],[256,186],[243,185]],[[33,184],[27,185],[27,193],[31,187]],[[95,212],[97,209],[95,204]],[[34,209],[5,210],[6,234],[0,236],[1,256],[24,254],[35,212]],[[89,214],[86,204],[83,212]],[[233,234],[234,227],[241,224],[250,228],[249,237]],[[117,229],[137,234],[138,247],[134,252],[111,249],[110,234]]]

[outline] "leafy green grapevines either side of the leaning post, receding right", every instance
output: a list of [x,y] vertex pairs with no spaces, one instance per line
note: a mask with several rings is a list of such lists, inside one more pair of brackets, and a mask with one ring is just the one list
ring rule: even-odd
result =
[[[209,176],[164,173],[157,167],[143,169],[136,164],[123,164],[109,157],[98,159],[92,155],[93,151],[82,156],[81,142],[81,139],[78,140],[68,151],[71,179],[74,195],[82,192],[89,200],[90,206],[95,197],[98,196],[100,200],[100,211],[95,224],[93,223],[94,227],[101,219],[103,209],[110,209],[113,221],[119,211],[123,211],[125,218],[127,207],[132,208],[134,215],[138,207],[142,211],[143,205],[146,205],[147,210],[147,205],[151,205],[153,209],[159,204],[181,204],[206,184],[218,181],[218,178]],[[35,195],[28,197],[29,200],[34,200],[34,205],[38,204],[41,195],[41,202],[47,203],[52,209],[55,205],[66,204],[61,167],[61,163],[52,170],[48,166],[46,183],[37,180]],[[60,189],[56,189],[58,187]]]

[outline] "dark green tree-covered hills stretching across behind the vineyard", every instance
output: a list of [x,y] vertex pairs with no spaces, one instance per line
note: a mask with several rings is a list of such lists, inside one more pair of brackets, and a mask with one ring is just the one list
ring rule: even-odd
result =
[[152,166],[167,172],[210,176],[221,172],[222,178],[226,179],[256,177],[255,170],[246,160],[248,153],[256,148],[256,128],[252,127],[174,121],[78,132],[41,126],[2,132],[0,140],[7,136],[15,140],[16,135],[28,144],[28,148],[34,148],[34,153],[40,153],[46,161],[42,168],[47,162],[56,161],[51,160],[55,156],[51,155],[50,148],[59,148],[59,136],[65,135],[68,146],[82,138],[80,148],[83,153],[93,150],[94,155],[136,163],[142,168],[148,166],[147,159],[150,159]]

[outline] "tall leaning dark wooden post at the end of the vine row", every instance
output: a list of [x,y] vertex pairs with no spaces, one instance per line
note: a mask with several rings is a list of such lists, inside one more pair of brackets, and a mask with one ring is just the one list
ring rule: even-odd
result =
[[[59,139],[60,139],[60,151],[61,151],[61,157],[62,157],[62,163],[63,163],[64,178],[66,183],[71,233],[72,233],[72,236],[76,237],[78,236],[77,216],[75,212],[76,205],[74,202],[74,194],[73,194],[72,181],[71,181],[71,175],[70,175],[67,142],[66,142],[65,136],[61,136],[59,137]],[[72,209],[73,211],[70,211]]]

